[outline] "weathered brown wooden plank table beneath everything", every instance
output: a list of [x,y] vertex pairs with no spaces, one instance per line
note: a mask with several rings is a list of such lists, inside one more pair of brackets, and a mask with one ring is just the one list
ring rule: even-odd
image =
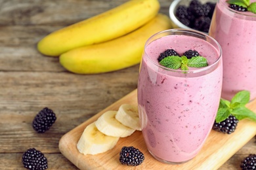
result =
[[[36,50],[48,33],[95,16],[127,0],[0,0],[0,169],[22,169],[22,153],[37,148],[49,169],[77,169],[58,149],[68,131],[137,88],[139,65],[113,73],[75,75],[58,58]],[[160,0],[168,14],[171,0]],[[32,120],[43,107],[57,120],[43,134]],[[239,169],[240,160],[256,153],[251,139],[220,169]]]

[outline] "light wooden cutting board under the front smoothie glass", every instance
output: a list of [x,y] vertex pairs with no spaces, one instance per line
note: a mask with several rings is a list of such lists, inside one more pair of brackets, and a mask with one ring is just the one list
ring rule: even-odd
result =
[[[212,130],[198,156],[181,165],[170,165],[155,160],[146,149],[141,131],[135,131],[129,137],[120,138],[117,145],[108,152],[93,156],[80,154],[76,144],[85,127],[107,110],[117,110],[123,103],[137,105],[137,90],[125,95],[116,103],[66,133],[59,142],[60,152],[79,169],[218,169],[256,135],[256,123],[246,119],[241,120],[236,131],[230,135]],[[247,104],[247,108],[256,112],[256,100]],[[137,167],[121,165],[119,152],[123,146],[139,148],[145,156],[143,163]]]

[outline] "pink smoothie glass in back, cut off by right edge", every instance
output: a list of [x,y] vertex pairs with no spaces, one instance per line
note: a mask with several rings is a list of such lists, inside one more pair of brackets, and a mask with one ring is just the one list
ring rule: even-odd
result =
[[[256,0],[251,0],[256,2]],[[213,13],[209,35],[223,50],[223,92],[230,100],[235,93],[248,90],[256,98],[256,14],[230,9],[219,0]]]

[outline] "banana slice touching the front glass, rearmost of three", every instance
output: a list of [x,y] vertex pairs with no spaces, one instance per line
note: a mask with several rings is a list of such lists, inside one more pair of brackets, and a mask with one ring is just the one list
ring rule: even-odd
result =
[[121,105],[117,111],[116,120],[131,129],[141,131],[138,108],[133,105]]

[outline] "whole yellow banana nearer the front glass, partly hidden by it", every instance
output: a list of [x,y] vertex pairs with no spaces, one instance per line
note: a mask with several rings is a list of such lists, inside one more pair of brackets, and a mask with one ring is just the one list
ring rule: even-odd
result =
[[147,39],[165,29],[171,21],[158,14],[139,29],[112,41],[75,48],[60,55],[60,64],[73,73],[94,74],[117,71],[140,63]]

